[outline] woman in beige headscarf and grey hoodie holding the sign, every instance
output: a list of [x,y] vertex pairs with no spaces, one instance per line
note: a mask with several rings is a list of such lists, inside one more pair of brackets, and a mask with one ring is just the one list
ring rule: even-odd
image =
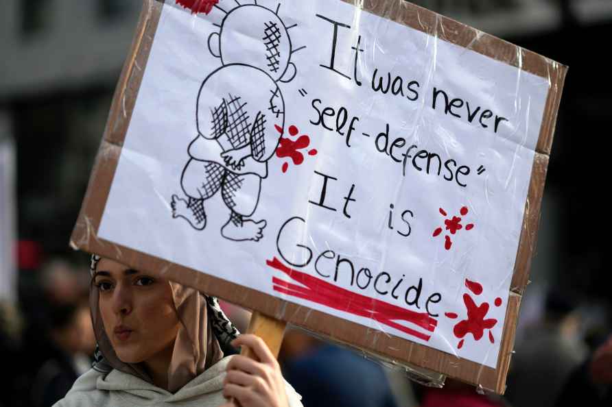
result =
[[265,343],[193,288],[93,256],[90,306],[96,362],[56,406],[302,406]]

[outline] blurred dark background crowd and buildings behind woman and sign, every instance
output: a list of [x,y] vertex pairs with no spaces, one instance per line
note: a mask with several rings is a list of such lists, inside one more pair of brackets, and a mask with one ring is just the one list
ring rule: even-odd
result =
[[[422,386],[398,367],[300,330],[287,332],[281,350],[287,380],[306,407],[546,407],[574,397],[610,406],[604,166],[612,89],[603,61],[612,38],[612,1],[414,3],[570,67],[508,391],[504,397],[479,395],[451,380],[442,390]],[[71,251],[68,240],[141,1],[1,5],[0,406],[51,406],[91,365],[88,260]],[[248,313],[224,306],[246,328]]]

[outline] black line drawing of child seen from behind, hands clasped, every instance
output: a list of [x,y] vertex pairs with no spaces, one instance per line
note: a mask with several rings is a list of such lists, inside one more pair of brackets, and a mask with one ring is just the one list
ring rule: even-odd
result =
[[222,236],[258,241],[266,221],[250,218],[285,125],[277,82],[290,82],[296,68],[290,62],[287,28],[272,10],[240,5],[227,13],[221,27],[220,34],[209,37],[209,51],[222,66],[200,88],[198,136],[189,145],[180,180],[186,196],[172,196],[172,216],[203,230],[206,200],[220,193],[228,208]]

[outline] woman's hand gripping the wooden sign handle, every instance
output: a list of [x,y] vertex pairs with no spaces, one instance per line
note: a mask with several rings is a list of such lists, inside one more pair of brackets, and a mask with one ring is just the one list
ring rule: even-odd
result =
[[[223,395],[242,407],[289,407],[279,362],[259,336],[240,335],[235,347],[248,347],[258,360],[236,355],[227,365]],[[223,407],[235,406],[232,402]]]

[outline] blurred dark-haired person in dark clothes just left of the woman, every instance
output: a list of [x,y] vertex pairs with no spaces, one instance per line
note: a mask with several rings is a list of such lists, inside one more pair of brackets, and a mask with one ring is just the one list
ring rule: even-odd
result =
[[32,403],[37,407],[52,406],[68,393],[75,380],[91,367],[89,355],[95,348],[86,303],[51,306],[48,323],[51,354],[32,386]]

